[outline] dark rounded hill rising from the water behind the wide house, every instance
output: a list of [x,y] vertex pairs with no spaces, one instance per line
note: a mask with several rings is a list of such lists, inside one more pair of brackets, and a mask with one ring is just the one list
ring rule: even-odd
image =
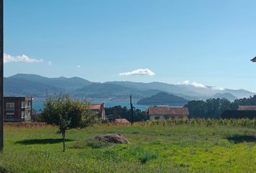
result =
[[168,105],[168,106],[183,106],[189,102],[188,99],[178,97],[174,94],[159,92],[151,97],[140,99],[138,105]]

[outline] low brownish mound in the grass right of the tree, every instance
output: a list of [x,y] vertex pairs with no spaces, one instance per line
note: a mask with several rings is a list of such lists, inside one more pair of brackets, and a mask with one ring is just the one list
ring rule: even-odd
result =
[[96,136],[95,139],[107,143],[129,143],[129,141],[121,134],[105,134]]

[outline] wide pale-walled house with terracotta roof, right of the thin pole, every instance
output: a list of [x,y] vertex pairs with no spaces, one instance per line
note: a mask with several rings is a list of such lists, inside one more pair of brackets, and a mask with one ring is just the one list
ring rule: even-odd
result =
[[168,120],[170,118],[188,118],[187,107],[149,107],[147,110],[150,120]]

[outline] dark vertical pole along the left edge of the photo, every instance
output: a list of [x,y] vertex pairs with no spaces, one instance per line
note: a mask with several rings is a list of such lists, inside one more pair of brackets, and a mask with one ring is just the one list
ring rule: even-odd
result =
[[0,0],[0,151],[4,149],[4,0]]

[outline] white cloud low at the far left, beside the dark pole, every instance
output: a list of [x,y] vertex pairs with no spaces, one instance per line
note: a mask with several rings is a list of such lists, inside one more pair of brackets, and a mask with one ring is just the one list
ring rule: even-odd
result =
[[24,63],[43,63],[43,59],[30,58],[28,56],[11,56],[7,53],[4,53],[4,63],[13,63],[13,62],[24,62]]

